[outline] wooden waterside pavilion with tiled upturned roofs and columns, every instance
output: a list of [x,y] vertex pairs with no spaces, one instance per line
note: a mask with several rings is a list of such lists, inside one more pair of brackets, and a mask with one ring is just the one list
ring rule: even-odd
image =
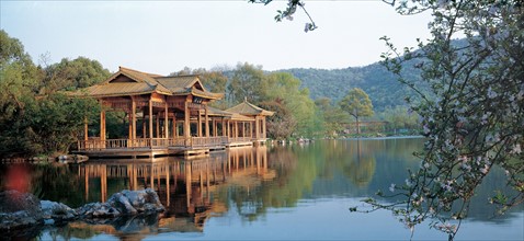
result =
[[[94,97],[102,106],[99,136],[89,136],[86,122],[78,141],[78,152],[90,157],[201,154],[265,142],[265,116],[273,115],[247,101],[227,111],[208,106],[224,94],[207,91],[198,76],[162,77],[123,67],[73,95]],[[127,138],[107,138],[109,111],[126,113]]]

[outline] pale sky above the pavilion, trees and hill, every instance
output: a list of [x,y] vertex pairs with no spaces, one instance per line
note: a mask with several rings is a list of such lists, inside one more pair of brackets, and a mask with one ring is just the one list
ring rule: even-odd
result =
[[337,69],[380,60],[387,35],[401,49],[429,37],[429,14],[402,16],[380,0],[305,0],[318,30],[304,32],[306,15],[274,21],[286,1],[247,0],[5,1],[0,27],[19,38],[38,64],[78,56],[169,74],[184,67],[250,62],[264,70]]

